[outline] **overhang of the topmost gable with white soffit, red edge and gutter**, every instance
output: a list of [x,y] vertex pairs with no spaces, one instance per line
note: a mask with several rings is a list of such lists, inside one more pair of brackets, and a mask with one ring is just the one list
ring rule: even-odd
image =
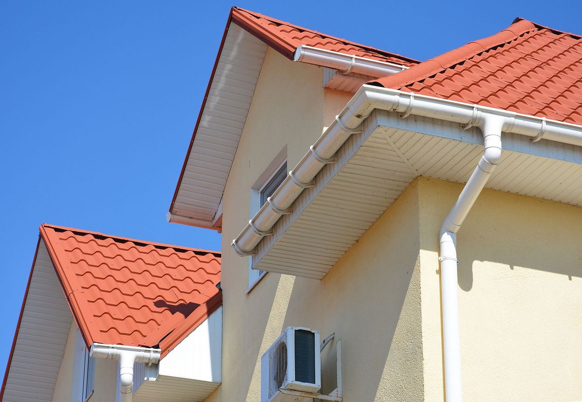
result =
[[344,91],[356,91],[370,79],[407,68],[317,47],[293,47],[261,33],[261,27],[250,26],[233,9],[172,198],[169,222],[221,231],[222,194],[268,47],[290,60],[324,66],[324,87]]

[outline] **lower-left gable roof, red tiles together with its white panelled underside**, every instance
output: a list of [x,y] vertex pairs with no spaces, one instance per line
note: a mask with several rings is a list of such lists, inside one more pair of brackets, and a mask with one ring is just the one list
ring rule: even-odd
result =
[[220,264],[214,251],[42,225],[0,400],[51,400],[73,317],[87,346],[159,345],[163,358],[222,305]]

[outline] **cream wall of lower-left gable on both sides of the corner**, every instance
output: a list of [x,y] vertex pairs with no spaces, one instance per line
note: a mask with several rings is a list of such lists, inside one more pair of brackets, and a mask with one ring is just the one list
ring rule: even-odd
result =
[[[69,402],[72,397],[75,344],[77,340],[77,324],[73,321],[69,330],[65,354],[56,378],[55,391],[52,400],[59,402]],[[115,360],[97,359],[95,360],[95,382],[93,395],[88,399],[90,402],[112,402],[115,401],[117,393],[118,364]]]

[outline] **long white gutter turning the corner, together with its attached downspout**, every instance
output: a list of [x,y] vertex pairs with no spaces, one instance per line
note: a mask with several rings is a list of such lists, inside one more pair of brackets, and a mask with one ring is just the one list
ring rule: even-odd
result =
[[532,142],[543,137],[551,141],[582,146],[582,127],[486,106],[364,85],[336,116],[335,122],[310,147],[310,152],[307,152],[289,172],[289,176],[249,221],[249,225],[232,241],[232,246],[238,254],[255,254],[255,247],[259,241],[264,236],[272,234],[272,228],[277,220],[281,215],[290,212],[293,201],[304,188],[313,186],[315,175],[321,168],[326,163],[335,162],[335,152],[351,134],[360,132],[356,127],[359,127],[374,109],[400,112],[401,118],[416,115],[461,123],[464,124],[464,128],[478,126],[484,134],[484,155],[443,222],[440,237],[445,392],[448,402],[460,401],[462,385],[456,232],[499,162],[502,131],[533,137],[530,138]]

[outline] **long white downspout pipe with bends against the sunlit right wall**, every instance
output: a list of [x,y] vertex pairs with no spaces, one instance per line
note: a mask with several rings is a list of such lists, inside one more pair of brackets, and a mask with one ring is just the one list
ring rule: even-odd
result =
[[447,402],[463,400],[461,348],[459,334],[459,294],[457,284],[456,233],[491,173],[501,158],[501,130],[505,119],[485,115],[479,124],[484,137],[484,152],[441,227],[441,308],[445,357],[445,395]]

